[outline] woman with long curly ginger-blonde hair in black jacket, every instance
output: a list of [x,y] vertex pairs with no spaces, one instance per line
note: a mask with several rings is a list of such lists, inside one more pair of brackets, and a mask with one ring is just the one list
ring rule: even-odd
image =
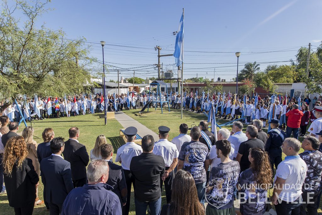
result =
[[2,165],[9,205],[14,208],[15,214],[31,215],[35,204],[39,177],[32,160],[27,156],[24,137],[12,137],[8,140]]

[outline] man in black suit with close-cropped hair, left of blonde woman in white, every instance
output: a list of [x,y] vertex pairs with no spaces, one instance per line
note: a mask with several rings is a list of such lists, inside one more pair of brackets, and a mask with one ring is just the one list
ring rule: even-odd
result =
[[90,157],[86,147],[78,142],[80,131],[77,127],[71,127],[68,131],[69,139],[65,142],[65,149],[62,152],[66,161],[71,163],[71,179],[74,187],[82,187],[87,183],[86,166]]

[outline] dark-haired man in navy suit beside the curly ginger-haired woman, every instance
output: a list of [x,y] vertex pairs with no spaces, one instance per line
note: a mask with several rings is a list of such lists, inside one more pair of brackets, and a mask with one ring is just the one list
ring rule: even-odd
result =
[[59,215],[62,212],[62,204],[68,193],[74,188],[71,180],[71,164],[61,156],[64,145],[62,137],[52,139],[50,142],[52,155],[44,158],[40,164],[51,215]]

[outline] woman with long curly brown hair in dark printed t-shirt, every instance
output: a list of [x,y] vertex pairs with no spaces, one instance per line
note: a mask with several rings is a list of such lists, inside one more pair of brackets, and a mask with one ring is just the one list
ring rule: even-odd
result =
[[240,190],[242,214],[264,214],[267,191],[272,184],[269,156],[260,148],[251,148],[248,155],[251,167],[242,171],[237,183]]

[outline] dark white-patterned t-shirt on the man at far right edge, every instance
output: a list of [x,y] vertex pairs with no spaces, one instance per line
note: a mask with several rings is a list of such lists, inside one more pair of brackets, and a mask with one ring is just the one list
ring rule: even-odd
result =
[[322,153],[320,151],[304,151],[299,154],[308,166],[302,192],[320,192],[322,174]]

